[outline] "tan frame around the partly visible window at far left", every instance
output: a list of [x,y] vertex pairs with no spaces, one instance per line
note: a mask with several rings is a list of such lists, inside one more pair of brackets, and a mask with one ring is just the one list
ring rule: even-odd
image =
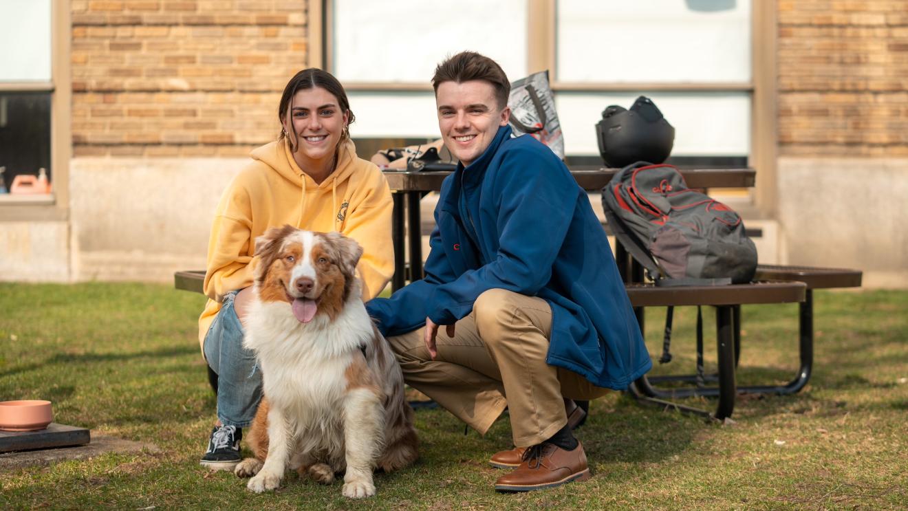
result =
[[[71,0],[51,3],[51,81],[3,82],[3,92],[47,92],[51,95],[51,182],[49,196],[0,196],[2,221],[64,221],[69,218],[69,166],[73,153],[70,49],[73,34]],[[7,186],[12,182],[6,183]]]

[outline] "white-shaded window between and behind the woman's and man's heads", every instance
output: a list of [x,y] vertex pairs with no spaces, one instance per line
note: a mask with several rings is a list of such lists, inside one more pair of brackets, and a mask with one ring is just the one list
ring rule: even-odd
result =
[[355,138],[438,138],[429,82],[444,55],[469,48],[508,77],[527,74],[528,0],[333,0],[325,9],[326,69],[350,96]]

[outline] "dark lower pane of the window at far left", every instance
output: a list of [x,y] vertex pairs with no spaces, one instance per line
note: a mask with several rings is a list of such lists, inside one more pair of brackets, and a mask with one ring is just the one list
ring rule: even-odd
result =
[[51,179],[51,93],[0,93],[0,167],[7,190],[41,167]]

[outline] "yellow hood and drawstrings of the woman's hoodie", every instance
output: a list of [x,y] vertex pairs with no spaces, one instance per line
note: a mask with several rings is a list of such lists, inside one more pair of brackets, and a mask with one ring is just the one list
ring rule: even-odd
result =
[[[300,214],[296,221],[297,227],[302,227],[302,219],[306,213],[307,192],[331,192],[331,211],[339,211],[341,204],[338,203],[338,187],[341,183],[351,180],[355,175],[357,166],[356,146],[352,141],[347,140],[338,145],[337,164],[334,166],[334,172],[328,175],[321,183],[316,183],[309,174],[303,172],[293,154],[290,151],[290,144],[285,139],[276,142],[270,142],[262,147],[250,152],[252,160],[262,162],[274,172],[277,172],[284,180],[291,183],[291,186],[300,190]],[[356,183],[351,182],[350,187],[344,189],[355,189]],[[321,193],[320,193],[321,196]],[[341,198],[342,200],[342,198]],[[318,200],[320,203],[322,200]],[[339,221],[343,221],[341,213],[333,220],[334,231],[340,231]]]

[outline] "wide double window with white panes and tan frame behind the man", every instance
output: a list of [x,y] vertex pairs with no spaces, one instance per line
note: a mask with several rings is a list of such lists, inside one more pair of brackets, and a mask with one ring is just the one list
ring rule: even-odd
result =
[[775,147],[775,69],[765,58],[775,52],[772,3],[312,4],[324,9],[315,62],[347,87],[357,113],[354,136],[438,137],[429,78],[446,54],[470,49],[496,59],[511,80],[549,70],[571,162],[601,162],[595,124],[602,111],[627,108],[640,94],[675,126],[673,157],[754,164],[755,155],[775,154],[765,151]]

